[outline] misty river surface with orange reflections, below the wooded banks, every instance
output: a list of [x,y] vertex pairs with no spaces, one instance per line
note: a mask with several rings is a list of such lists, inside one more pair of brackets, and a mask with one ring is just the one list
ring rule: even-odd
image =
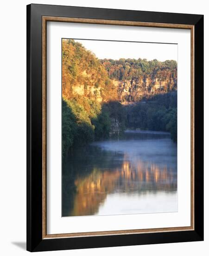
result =
[[74,150],[62,182],[63,216],[177,211],[177,146],[166,133],[128,131]]

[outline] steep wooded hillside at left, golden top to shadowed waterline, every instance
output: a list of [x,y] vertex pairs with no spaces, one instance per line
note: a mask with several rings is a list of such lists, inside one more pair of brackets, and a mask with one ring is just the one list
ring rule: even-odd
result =
[[63,40],[62,67],[64,156],[73,145],[120,133],[125,114],[105,67],[82,44]]

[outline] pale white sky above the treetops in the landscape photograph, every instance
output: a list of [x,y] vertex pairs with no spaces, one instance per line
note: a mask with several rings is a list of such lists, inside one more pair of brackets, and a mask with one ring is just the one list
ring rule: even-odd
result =
[[157,59],[158,61],[177,61],[176,44],[117,42],[99,40],[75,40],[93,52],[99,59]]

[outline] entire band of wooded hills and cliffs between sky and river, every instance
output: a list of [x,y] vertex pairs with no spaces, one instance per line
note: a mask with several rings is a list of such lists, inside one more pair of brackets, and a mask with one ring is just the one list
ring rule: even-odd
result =
[[[82,44],[63,40],[63,156],[74,146],[125,128],[171,132],[176,123],[171,120],[177,119],[176,90],[176,61],[99,60]],[[171,94],[174,104],[166,105],[163,99]]]

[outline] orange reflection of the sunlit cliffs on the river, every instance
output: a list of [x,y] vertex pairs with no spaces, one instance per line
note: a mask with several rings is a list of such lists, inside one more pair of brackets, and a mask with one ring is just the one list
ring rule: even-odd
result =
[[75,181],[76,195],[71,216],[95,215],[108,194],[177,190],[176,172],[167,166],[149,162],[130,162],[124,158],[121,168],[94,168],[87,177]]

